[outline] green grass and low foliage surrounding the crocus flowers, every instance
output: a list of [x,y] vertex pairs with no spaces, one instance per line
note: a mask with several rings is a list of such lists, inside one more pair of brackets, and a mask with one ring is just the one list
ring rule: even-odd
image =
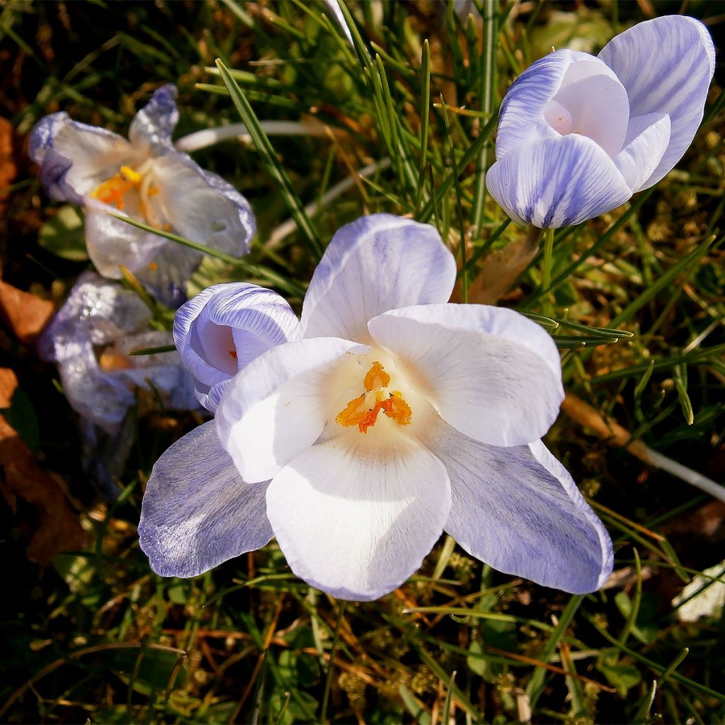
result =
[[[17,130],[19,178],[3,220],[4,279],[59,301],[87,266],[79,213],[49,202],[22,157],[33,124],[65,110],[125,134],[153,89],[174,82],[177,137],[247,125],[251,143],[231,139],[194,158],[247,196],[259,227],[241,260],[202,249],[189,291],[244,279],[299,310],[332,233],[384,210],[434,223],[457,254],[457,299],[481,301],[486,270],[510,272],[499,253],[526,243],[485,190],[506,88],[552,45],[597,51],[644,19],[647,4],[474,5],[480,23],[450,4],[352,1],[351,45],[319,1],[5,4],[0,115]],[[714,22],[725,9],[693,2],[687,12]],[[552,233],[497,297],[566,351],[570,394],[713,477],[722,477],[725,421],[724,102],[713,88],[673,173],[602,218]],[[329,133],[273,136],[263,123],[310,118]],[[373,162],[372,175],[357,175]],[[167,311],[154,313],[169,326]],[[443,539],[397,592],[341,606],[296,579],[274,543],[195,579],[155,576],[136,534],[144,482],[200,419],[139,405],[121,494],[108,500],[83,473],[51,368],[7,336],[0,344],[22,389],[5,416],[91,537],[39,576],[25,558],[36,513],[6,507],[4,720],[725,721],[725,619],[685,623],[671,605],[722,559],[712,533],[722,515],[683,481],[608,447],[595,426],[563,414],[547,445],[613,535],[608,588],[582,597],[537,587]]]

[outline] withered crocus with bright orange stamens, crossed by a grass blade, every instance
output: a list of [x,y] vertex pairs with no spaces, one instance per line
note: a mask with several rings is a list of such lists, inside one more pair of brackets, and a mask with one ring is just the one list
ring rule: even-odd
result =
[[86,210],[86,246],[104,277],[125,265],[167,304],[183,288],[202,254],[109,215],[128,216],[228,254],[246,254],[255,222],[247,199],[220,176],[175,151],[176,88],[157,89],[134,117],[128,141],[59,112],[30,134],[30,157],[54,199]]

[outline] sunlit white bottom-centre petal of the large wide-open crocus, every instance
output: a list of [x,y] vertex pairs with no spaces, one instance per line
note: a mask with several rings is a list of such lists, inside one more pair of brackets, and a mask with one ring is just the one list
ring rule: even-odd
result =
[[450,486],[412,436],[368,455],[330,441],[291,460],[267,489],[267,513],[292,571],[335,597],[399,587],[442,533]]

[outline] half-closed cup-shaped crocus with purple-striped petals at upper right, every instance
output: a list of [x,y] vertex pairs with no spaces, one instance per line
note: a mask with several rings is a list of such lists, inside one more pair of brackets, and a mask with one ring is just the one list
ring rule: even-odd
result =
[[514,221],[579,224],[660,181],[703,119],[715,49],[692,17],[647,20],[598,57],[560,50],[503,99],[489,193]]

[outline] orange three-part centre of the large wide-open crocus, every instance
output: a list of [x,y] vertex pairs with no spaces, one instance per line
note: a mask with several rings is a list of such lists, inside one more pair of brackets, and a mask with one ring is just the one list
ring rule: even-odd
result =
[[335,421],[345,428],[357,426],[360,433],[367,433],[370,426],[374,426],[378,420],[378,414],[383,413],[395,421],[399,426],[409,426],[413,411],[410,405],[405,402],[399,390],[384,391],[390,384],[390,376],[385,368],[377,361],[370,365],[370,370],[365,373],[363,386],[365,392],[353,398],[341,410]]

